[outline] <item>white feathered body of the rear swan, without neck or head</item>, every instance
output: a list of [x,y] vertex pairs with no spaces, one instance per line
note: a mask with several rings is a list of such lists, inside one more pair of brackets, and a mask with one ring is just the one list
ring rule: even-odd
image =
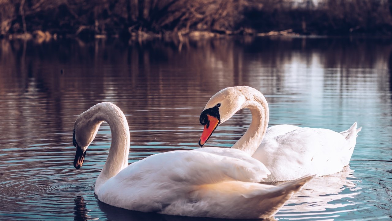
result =
[[338,173],[350,162],[360,130],[357,131],[356,125],[350,128],[350,134],[355,134],[351,139],[328,129],[272,126],[252,157],[271,171],[270,181],[292,180],[309,173],[317,176]]

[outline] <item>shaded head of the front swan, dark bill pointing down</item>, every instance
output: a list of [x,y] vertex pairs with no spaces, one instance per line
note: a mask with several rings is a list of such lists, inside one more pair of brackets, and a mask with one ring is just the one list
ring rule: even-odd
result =
[[75,121],[72,142],[74,147],[76,147],[74,159],[74,167],[76,169],[82,167],[87,147],[93,142],[102,123],[102,120],[98,120],[96,114],[94,114],[99,111],[97,109],[99,109],[98,106],[93,106],[80,114]]

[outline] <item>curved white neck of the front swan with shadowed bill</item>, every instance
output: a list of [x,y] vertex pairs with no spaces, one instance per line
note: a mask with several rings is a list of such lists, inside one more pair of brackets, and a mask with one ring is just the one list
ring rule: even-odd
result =
[[128,166],[130,145],[128,122],[125,115],[118,107],[107,105],[107,108],[102,109],[102,113],[99,114],[97,120],[100,120],[101,122],[106,121],[109,124],[112,134],[112,143],[105,165],[95,182],[95,193],[98,193],[102,184],[108,179],[114,177],[118,172]]

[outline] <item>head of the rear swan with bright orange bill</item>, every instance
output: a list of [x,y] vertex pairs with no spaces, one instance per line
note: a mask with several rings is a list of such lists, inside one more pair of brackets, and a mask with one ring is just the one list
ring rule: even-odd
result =
[[[229,120],[238,110],[244,107],[247,97],[243,90],[249,88],[251,87],[228,87],[210,98],[200,114],[200,123],[204,125],[204,130],[199,140],[200,147],[203,147],[218,125]],[[256,90],[254,88],[251,89]]]

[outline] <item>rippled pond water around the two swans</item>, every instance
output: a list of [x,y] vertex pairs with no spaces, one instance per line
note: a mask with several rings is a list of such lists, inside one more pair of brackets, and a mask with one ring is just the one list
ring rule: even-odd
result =
[[[111,143],[109,126],[102,125],[76,170],[73,123],[110,101],[129,122],[129,163],[194,149],[205,103],[236,85],[265,95],[270,126],[363,127],[350,166],[312,180],[276,220],[392,219],[391,40],[1,40],[0,47],[2,220],[190,220],[100,203],[94,183]],[[230,147],[250,121],[249,110],[241,110],[205,146]]]

